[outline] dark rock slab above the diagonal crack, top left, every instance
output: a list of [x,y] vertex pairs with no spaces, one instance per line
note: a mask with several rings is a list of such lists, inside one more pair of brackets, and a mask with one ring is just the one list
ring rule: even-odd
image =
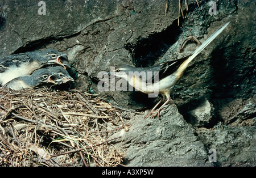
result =
[[42,39],[61,39],[79,33],[92,23],[113,18],[118,8],[117,1],[112,0],[107,4],[105,1],[44,2],[46,15],[39,15],[39,1],[0,1],[6,20],[1,32],[1,55],[31,47]]

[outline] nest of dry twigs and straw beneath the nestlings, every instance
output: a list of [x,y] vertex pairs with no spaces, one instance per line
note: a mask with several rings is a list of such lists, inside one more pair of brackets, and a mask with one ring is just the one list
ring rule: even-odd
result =
[[0,166],[118,166],[122,111],[98,95],[0,88]]

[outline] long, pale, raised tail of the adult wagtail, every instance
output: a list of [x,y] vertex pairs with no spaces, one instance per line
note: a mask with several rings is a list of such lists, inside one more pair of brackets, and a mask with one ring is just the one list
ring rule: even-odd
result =
[[230,22],[226,23],[225,26],[217,29],[207,40],[204,41],[193,53],[192,55],[183,62],[182,65],[179,67],[179,71],[182,73],[188,66],[189,62],[191,62],[210,42],[212,42],[220,33],[229,25]]

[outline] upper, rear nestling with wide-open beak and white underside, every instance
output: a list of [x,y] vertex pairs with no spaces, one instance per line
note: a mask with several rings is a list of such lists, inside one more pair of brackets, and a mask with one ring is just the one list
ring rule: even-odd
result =
[[46,49],[6,56],[0,60],[0,85],[3,86],[14,78],[30,75],[44,65],[52,64],[64,68],[69,66],[67,54],[60,53],[55,49]]

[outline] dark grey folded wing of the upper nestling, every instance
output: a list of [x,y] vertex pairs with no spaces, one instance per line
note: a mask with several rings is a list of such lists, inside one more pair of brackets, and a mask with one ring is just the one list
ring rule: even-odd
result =
[[11,66],[19,67],[22,63],[30,61],[27,54],[13,54],[0,60],[0,73],[4,73]]

